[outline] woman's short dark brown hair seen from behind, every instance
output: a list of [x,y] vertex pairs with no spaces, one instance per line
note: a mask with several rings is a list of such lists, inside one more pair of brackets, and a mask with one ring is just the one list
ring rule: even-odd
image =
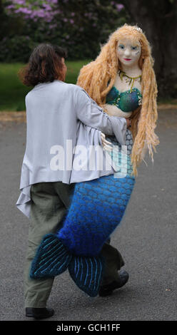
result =
[[29,63],[19,71],[19,78],[26,86],[52,82],[56,79],[64,81],[64,63],[67,53],[64,48],[50,43],[41,43],[34,48]]

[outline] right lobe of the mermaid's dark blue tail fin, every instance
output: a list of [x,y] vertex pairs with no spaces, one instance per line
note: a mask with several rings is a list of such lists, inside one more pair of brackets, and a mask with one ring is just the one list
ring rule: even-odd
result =
[[69,263],[69,274],[76,285],[90,297],[96,297],[103,277],[103,257],[74,256]]

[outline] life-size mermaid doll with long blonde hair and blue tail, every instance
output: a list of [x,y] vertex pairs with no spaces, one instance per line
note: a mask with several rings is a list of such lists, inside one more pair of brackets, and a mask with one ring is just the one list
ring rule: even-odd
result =
[[76,285],[96,297],[104,273],[103,243],[122,220],[145,145],[153,158],[158,144],[156,78],[143,31],[125,24],[112,33],[96,60],[81,69],[77,84],[109,115],[131,117],[133,137],[127,130],[126,151],[118,150],[114,136],[106,137],[116,174],[76,183],[63,227],[44,237],[30,275],[54,277],[69,269]]

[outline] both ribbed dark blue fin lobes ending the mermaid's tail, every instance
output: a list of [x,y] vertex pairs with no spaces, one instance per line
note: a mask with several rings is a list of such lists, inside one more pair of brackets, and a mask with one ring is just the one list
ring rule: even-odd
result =
[[55,277],[69,268],[71,278],[79,289],[90,297],[96,297],[103,277],[103,265],[103,257],[75,256],[55,234],[46,234],[31,264],[30,277]]

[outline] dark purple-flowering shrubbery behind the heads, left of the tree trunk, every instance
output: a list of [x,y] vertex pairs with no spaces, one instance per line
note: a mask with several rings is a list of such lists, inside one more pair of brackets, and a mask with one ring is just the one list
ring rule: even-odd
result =
[[4,0],[4,15],[9,24],[0,36],[0,61],[26,62],[42,42],[65,47],[69,59],[92,59],[127,21],[123,5],[106,0]]

